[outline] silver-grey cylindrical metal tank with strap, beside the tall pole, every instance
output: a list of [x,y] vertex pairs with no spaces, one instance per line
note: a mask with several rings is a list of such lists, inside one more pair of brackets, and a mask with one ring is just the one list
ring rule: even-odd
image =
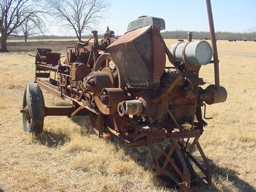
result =
[[206,65],[211,62],[211,45],[204,40],[194,42],[179,42],[170,45],[169,49],[173,54],[174,59],[178,62],[182,61],[183,51],[185,54],[185,61],[189,64]]

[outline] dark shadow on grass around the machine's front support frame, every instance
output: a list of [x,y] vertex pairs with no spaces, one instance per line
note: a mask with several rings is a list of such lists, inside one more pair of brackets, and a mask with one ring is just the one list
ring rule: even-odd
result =
[[[151,158],[150,150],[146,147],[126,147],[124,142],[119,141],[118,138],[112,139],[112,143],[117,149],[123,148],[125,153],[133,159],[139,166],[143,167],[144,170],[152,170],[153,159]],[[239,178],[239,173],[228,167],[219,167],[214,164],[214,161],[208,159],[212,171],[212,185],[199,184],[196,186],[196,191],[256,191],[249,182]],[[176,188],[170,186],[169,182],[158,179],[156,185],[159,183],[165,188],[175,191]],[[178,190],[179,191],[179,190]]]

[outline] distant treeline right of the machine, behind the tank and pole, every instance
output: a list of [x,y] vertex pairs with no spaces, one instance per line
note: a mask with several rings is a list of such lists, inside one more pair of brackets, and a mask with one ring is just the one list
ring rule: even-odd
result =
[[[188,31],[164,31],[161,33],[164,39],[187,39]],[[216,32],[219,40],[255,41],[256,31],[249,33]],[[210,39],[210,33],[205,31],[193,31],[193,39]]]

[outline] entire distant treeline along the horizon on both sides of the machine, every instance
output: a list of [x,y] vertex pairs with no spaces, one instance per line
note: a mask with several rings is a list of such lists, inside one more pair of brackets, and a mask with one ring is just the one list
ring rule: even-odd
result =
[[[92,35],[83,36],[88,39]],[[164,31],[161,33],[164,39],[187,39],[188,31]],[[103,38],[102,34],[98,35]],[[10,36],[9,39],[22,39],[22,36]],[[217,32],[216,38],[219,40],[256,41],[256,31],[248,33]],[[76,36],[30,36],[28,39],[77,39]],[[210,33],[205,31],[193,31],[193,39],[210,39]]]

